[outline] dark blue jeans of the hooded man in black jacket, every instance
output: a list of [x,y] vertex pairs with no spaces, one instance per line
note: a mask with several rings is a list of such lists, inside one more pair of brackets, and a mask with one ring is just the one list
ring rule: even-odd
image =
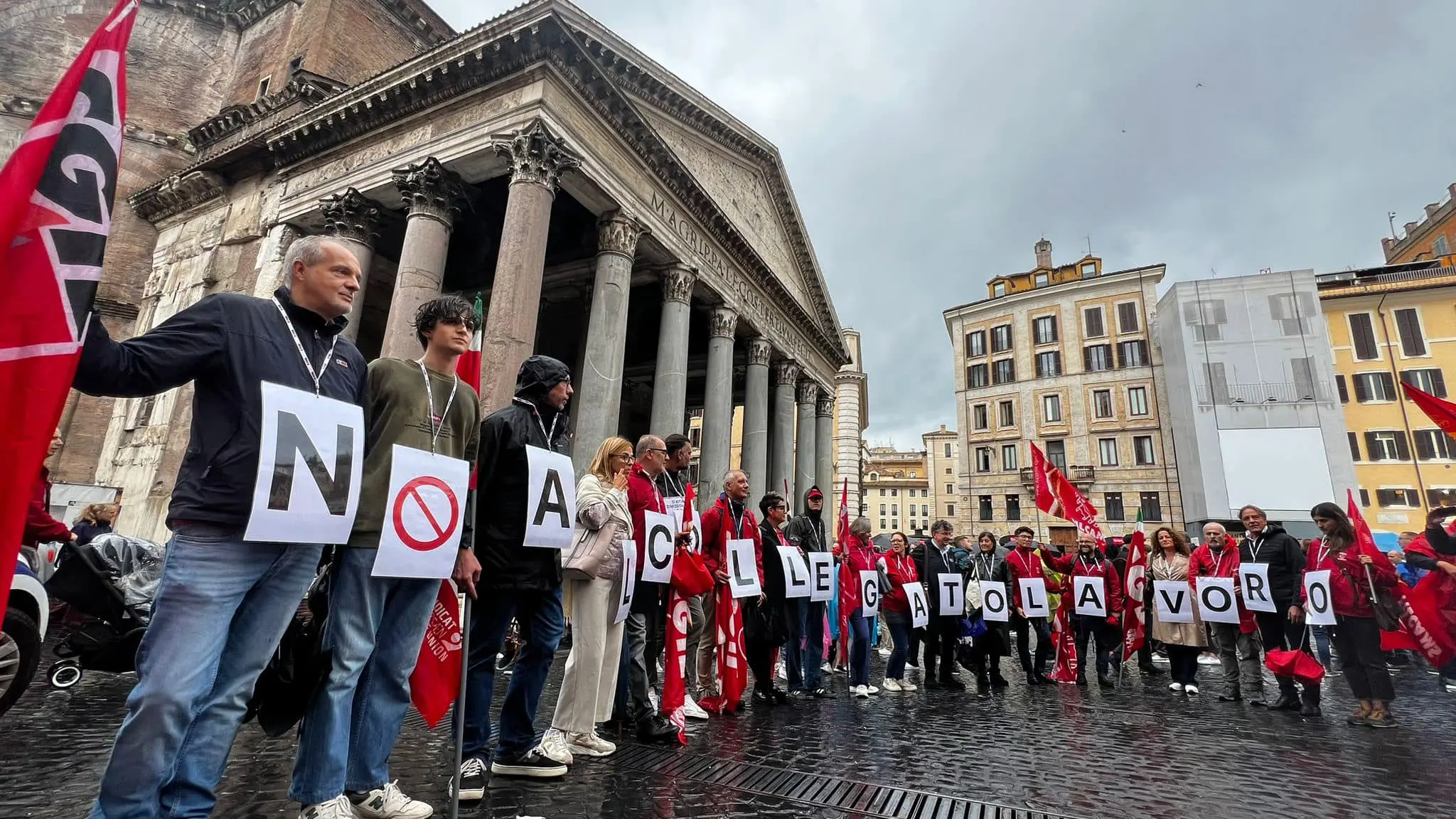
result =
[[[485,758],[491,745],[491,694],[495,689],[495,656],[514,616],[521,625],[521,650],[501,704],[501,737],[496,759],[514,759],[536,743],[536,707],[561,644],[565,619],[561,587],[550,592],[486,590],[472,602],[470,672],[466,678],[463,758]],[[459,705],[459,704],[457,704]],[[460,708],[456,708],[456,718]]]

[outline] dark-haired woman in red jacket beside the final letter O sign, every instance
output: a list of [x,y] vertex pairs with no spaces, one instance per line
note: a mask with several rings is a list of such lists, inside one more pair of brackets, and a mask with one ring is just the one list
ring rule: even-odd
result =
[[[1390,716],[1395,688],[1385,666],[1385,653],[1380,651],[1380,628],[1374,622],[1370,600],[1372,586],[1395,589],[1395,565],[1374,544],[1361,542],[1356,536],[1350,517],[1337,504],[1322,503],[1309,516],[1325,536],[1310,546],[1305,571],[1329,571],[1329,602],[1335,609],[1331,637],[1340,653],[1345,683],[1360,700],[1360,707],[1347,721],[1376,729],[1395,727],[1395,717]],[[1303,583],[1299,592],[1303,608],[1307,600]]]

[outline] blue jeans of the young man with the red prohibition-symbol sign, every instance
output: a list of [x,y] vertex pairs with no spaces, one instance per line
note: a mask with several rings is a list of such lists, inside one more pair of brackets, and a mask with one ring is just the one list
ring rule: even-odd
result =
[[325,641],[333,667],[303,717],[288,788],[303,804],[389,783],[389,753],[409,710],[409,675],[440,581],[371,577],[376,554],[339,549],[331,568]]

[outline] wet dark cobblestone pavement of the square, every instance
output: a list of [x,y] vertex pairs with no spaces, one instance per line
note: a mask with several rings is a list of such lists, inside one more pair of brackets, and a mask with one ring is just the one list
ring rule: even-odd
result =
[[[561,781],[496,780],[462,815],[1456,816],[1456,695],[1423,669],[1396,676],[1401,727],[1389,732],[1344,723],[1351,700],[1341,678],[1326,683],[1325,717],[1312,721],[1217,702],[1208,694],[1217,678],[1201,667],[1206,694],[1191,701],[1171,695],[1166,676],[1131,673],[1114,691],[1028,689],[1012,678],[986,697],[917,691],[748,710],[695,724],[683,749],[623,742],[614,758],[582,761]],[[103,673],[64,692],[38,681],[0,721],[0,819],[86,815],[130,686],[130,676]],[[543,702],[555,702],[555,678]],[[550,708],[540,717],[545,729]],[[447,742],[444,726],[430,733],[412,717],[393,758],[400,787],[432,800],[437,816]],[[291,737],[245,727],[215,816],[296,816],[285,796],[293,749]]]

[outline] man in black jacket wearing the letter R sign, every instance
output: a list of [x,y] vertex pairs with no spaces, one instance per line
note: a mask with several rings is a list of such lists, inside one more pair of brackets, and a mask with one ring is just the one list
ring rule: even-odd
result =
[[[1239,564],[1262,563],[1268,565],[1270,599],[1274,600],[1273,612],[1254,612],[1254,619],[1259,625],[1259,638],[1264,650],[1309,650],[1305,640],[1305,624],[1300,622],[1299,590],[1305,573],[1305,552],[1299,548],[1299,541],[1284,529],[1268,522],[1268,516],[1257,506],[1245,506],[1239,510],[1239,520],[1243,522],[1243,541],[1239,542]],[[1293,611],[1291,611],[1293,609]],[[1255,700],[1252,705],[1268,707],[1286,711],[1300,710],[1299,689],[1294,678],[1275,676],[1278,681],[1278,698],[1268,702]],[[1319,686],[1305,686],[1303,708],[1315,716],[1319,708]]]

